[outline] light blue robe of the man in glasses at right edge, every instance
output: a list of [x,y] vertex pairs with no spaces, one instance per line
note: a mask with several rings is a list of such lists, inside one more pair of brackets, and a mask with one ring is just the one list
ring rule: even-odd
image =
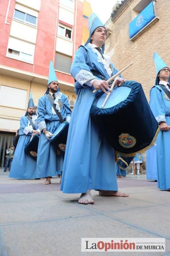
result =
[[[170,125],[170,99],[159,85],[154,86],[150,91],[150,107],[158,123],[166,121]],[[170,131],[160,130],[155,143],[158,188],[170,189]]]

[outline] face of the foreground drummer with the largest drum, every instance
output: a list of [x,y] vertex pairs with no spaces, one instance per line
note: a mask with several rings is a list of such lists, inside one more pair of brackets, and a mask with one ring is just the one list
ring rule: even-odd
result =
[[91,36],[92,44],[99,46],[100,48],[106,40],[107,31],[105,27],[98,27]]

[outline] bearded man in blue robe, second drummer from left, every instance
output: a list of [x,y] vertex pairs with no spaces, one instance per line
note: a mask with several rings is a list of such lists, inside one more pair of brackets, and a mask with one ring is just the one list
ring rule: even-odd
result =
[[56,176],[56,172],[63,169],[64,153],[56,154],[56,149],[49,143],[49,139],[61,124],[59,116],[56,114],[54,106],[48,99],[48,94],[52,96],[55,109],[61,114],[63,120],[70,122],[71,109],[68,98],[59,91],[59,83],[55,70],[50,61],[48,89],[38,102],[37,123],[41,131],[38,152],[37,152],[37,178],[46,177],[42,184],[51,184],[51,177]]

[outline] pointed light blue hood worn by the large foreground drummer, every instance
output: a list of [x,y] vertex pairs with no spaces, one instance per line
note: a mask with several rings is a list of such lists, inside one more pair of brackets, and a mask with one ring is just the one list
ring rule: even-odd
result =
[[[101,22],[101,20],[98,18],[98,16],[95,13],[92,13],[90,15],[89,22],[88,22],[88,30],[90,35],[85,45],[90,43],[91,35],[95,31],[95,29],[97,29],[98,27],[104,27],[104,24]],[[104,53],[104,44],[102,46],[102,52]]]

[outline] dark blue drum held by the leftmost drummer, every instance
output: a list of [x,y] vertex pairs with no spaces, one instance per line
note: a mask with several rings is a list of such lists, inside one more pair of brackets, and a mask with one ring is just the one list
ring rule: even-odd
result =
[[35,134],[31,137],[29,143],[25,146],[25,153],[31,156],[33,159],[37,159],[39,135]]

